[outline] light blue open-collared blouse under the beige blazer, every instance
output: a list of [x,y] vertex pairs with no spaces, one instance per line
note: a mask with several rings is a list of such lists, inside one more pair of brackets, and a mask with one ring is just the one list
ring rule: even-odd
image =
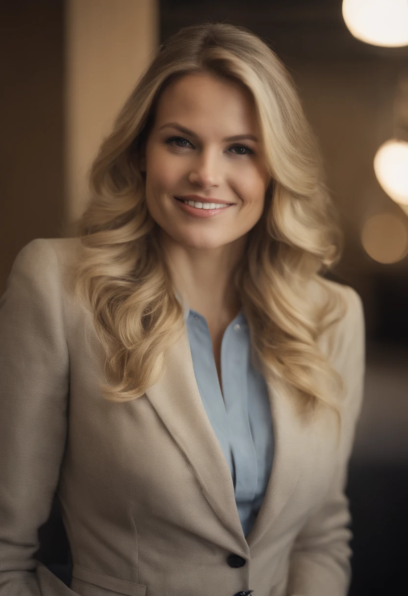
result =
[[249,328],[242,311],[230,322],[221,343],[218,381],[206,319],[184,308],[197,387],[231,470],[243,533],[248,536],[262,504],[273,461],[273,426],[264,377],[251,364]]

